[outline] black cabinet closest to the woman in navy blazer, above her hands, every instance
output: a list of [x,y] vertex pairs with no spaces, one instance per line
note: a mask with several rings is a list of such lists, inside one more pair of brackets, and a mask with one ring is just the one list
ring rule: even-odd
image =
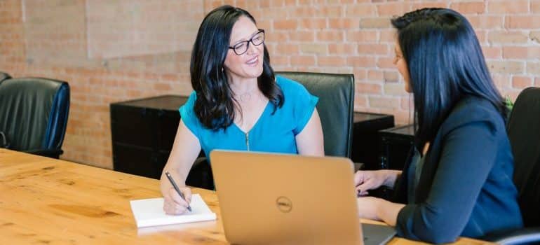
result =
[[405,125],[379,131],[380,169],[402,170],[407,155],[414,144],[414,126]]

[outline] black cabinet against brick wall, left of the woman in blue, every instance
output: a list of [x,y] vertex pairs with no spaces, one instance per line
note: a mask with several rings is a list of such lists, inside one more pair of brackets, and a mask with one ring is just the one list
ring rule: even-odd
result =
[[159,179],[187,97],[163,95],[117,102],[111,109],[114,170]]

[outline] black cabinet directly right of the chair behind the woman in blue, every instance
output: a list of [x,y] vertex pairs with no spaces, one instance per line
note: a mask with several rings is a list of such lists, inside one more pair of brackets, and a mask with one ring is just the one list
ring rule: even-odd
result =
[[377,132],[394,127],[392,115],[355,112],[351,160],[363,163],[363,169],[379,169],[379,136]]

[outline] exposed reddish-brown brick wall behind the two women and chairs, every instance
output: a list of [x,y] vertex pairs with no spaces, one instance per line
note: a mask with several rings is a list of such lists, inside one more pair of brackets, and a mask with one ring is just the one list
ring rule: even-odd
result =
[[[515,99],[524,87],[540,86],[540,0],[100,2],[0,1],[0,71],[69,81],[72,108],[62,158],[98,167],[112,168],[109,104],[188,94],[185,43],[193,40],[205,13],[224,3],[250,11],[259,27],[266,29],[276,70],[354,73],[355,110],[390,113],[398,124],[409,122],[410,100],[391,64],[389,18],[416,8],[442,6],[464,13],[505,96]],[[126,3],[130,5],[122,5]],[[139,24],[123,25],[118,16],[113,18],[115,13]],[[107,26],[107,18],[113,18],[110,23],[116,29],[100,28]],[[144,18],[151,20],[149,25],[135,21]],[[118,30],[125,31],[123,36],[114,36]],[[162,42],[153,43],[145,34]],[[123,50],[111,41],[140,36],[145,37],[141,43],[128,43]],[[163,44],[163,40],[179,43]],[[114,57],[107,57],[112,53],[104,52],[107,48],[115,51]]]

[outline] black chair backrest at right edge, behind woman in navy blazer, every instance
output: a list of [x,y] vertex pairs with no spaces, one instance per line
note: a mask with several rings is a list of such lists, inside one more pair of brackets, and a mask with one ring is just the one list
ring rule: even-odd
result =
[[540,226],[540,87],[519,94],[507,130],[523,222],[526,227]]

